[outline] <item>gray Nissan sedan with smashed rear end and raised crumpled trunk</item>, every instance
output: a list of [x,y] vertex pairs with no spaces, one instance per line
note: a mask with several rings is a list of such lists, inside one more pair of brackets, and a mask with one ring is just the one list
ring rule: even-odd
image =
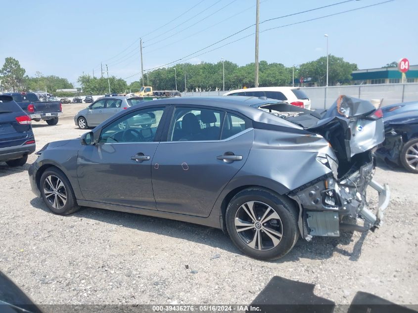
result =
[[[372,178],[381,112],[341,96],[322,117],[300,109],[319,121],[310,128],[269,113],[291,109],[223,96],[134,105],[81,138],[44,146],[29,169],[32,190],[56,214],[88,206],[221,228],[244,254],[266,260],[300,235],[378,227],[389,202],[388,187]],[[369,185],[379,194],[375,214]],[[364,226],[340,225],[358,216]]]

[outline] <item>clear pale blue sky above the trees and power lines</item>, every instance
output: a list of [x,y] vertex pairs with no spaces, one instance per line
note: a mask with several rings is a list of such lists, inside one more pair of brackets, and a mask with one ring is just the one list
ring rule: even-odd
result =
[[[261,0],[260,21],[342,1]],[[260,31],[382,1],[349,1],[262,23]],[[254,24],[255,3],[256,0],[2,1],[0,62],[12,56],[30,76],[40,71],[65,77],[76,86],[77,77],[83,72],[92,75],[94,69],[98,76],[101,61],[103,66],[108,64],[109,75],[126,78],[140,71],[139,37],[144,41],[144,69],[184,60],[184,56]],[[329,53],[357,63],[359,68],[381,67],[402,57],[418,64],[417,12],[418,0],[394,0],[262,32],[260,60],[292,66],[317,59],[326,55],[324,34],[328,34]],[[254,31],[255,27],[251,27],[207,50]],[[245,65],[254,62],[254,41],[252,35],[200,56],[191,55],[187,62],[217,62],[224,57]],[[135,75],[127,81],[138,79],[139,75]]]

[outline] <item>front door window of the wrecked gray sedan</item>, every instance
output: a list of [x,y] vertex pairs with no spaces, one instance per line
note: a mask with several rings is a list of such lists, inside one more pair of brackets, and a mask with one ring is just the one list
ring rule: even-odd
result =
[[154,141],[164,108],[151,108],[124,115],[106,126],[99,143]]

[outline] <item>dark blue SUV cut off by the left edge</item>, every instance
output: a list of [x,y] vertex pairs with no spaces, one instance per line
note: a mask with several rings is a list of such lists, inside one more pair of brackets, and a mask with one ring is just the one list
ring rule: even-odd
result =
[[0,161],[21,166],[34,151],[31,118],[12,96],[0,94]]

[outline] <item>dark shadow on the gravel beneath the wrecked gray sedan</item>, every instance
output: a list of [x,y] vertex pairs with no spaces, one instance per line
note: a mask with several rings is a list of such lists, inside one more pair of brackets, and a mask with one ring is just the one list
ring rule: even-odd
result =
[[[46,207],[41,198],[34,198],[30,204],[37,209],[53,214]],[[129,227],[140,231],[147,231],[163,236],[185,239],[199,244],[220,248],[228,252],[243,255],[232,243],[228,234],[224,234],[221,229],[207,227],[198,224],[155,218],[145,215],[82,207],[79,211],[69,215],[78,218],[95,220],[122,227]],[[272,263],[283,263],[298,261],[299,259],[322,260],[328,259],[334,253],[349,256],[350,261],[357,261],[361,255],[361,248],[367,233],[363,233],[352,251],[349,248],[342,248],[350,245],[353,241],[352,232],[343,232],[340,237],[314,237],[312,242],[299,238],[294,248],[279,260]]]

